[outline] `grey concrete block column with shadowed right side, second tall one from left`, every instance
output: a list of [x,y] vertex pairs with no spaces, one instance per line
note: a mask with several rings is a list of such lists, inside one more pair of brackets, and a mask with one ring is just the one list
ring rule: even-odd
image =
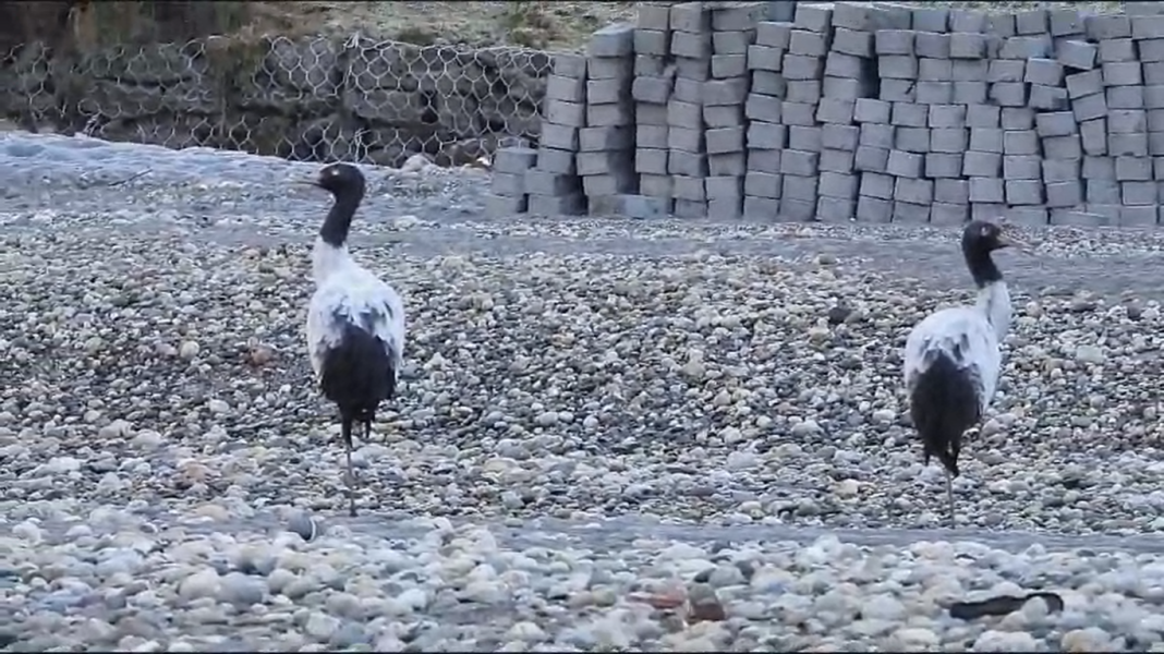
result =
[[[577,169],[591,214],[627,213],[636,200],[634,26],[615,23],[587,42],[585,127],[579,130]],[[637,213],[637,212],[636,212]]]

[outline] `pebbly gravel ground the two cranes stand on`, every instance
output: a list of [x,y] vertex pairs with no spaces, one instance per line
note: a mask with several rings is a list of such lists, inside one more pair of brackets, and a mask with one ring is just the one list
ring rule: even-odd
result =
[[[900,349],[970,297],[950,230],[488,220],[481,171],[369,170],[353,249],[409,369],[345,521],[301,342],[328,200],[288,185],[315,169],[0,137],[0,649],[1162,641],[1161,235],[1003,255],[949,534]],[[945,612],[1032,589],[1064,610]]]

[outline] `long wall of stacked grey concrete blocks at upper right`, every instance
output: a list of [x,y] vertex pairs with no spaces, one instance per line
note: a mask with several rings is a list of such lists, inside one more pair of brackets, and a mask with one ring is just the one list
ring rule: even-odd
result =
[[592,79],[572,95],[579,120],[601,102],[602,127],[627,129],[548,147],[601,154],[602,172],[569,171],[592,214],[1162,225],[1159,5],[644,2],[633,29],[595,35],[618,47],[588,51]]

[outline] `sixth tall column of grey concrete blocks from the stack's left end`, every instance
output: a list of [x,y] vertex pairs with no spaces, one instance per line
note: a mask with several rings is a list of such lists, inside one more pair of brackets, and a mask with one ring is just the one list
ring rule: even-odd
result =
[[747,119],[744,215],[748,218],[771,220],[781,215],[782,159],[788,144],[788,128],[781,122],[788,84],[781,69],[792,31],[792,21],[761,21],[754,43],[747,49],[752,79],[744,104]]

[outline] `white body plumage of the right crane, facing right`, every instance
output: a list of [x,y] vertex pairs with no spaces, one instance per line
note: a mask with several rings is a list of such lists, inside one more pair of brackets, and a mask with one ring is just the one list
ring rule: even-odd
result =
[[994,399],[1002,353],[999,343],[1010,326],[1010,293],[1003,282],[989,284],[978,294],[974,306],[937,311],[917,324],[906,339],[906,388],[914,390],[917,378],[944,353],[973,379],[979,407],[985,413]]

